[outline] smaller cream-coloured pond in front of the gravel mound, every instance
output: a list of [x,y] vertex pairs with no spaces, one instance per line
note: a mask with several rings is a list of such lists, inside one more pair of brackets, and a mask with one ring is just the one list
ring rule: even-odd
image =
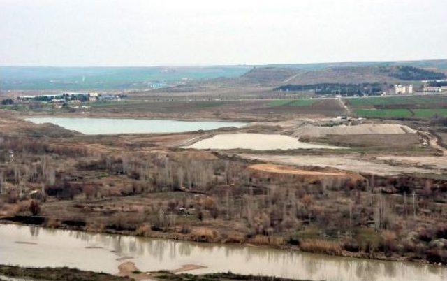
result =
[[279,134],[219,134],[211,138],[205,138],[184,148],[198,150],[215,149],[247,149],[247,150],[295,150],[295,149],[339,149],[332,145],[317,145],[314,143],[302,143],[291,136]]

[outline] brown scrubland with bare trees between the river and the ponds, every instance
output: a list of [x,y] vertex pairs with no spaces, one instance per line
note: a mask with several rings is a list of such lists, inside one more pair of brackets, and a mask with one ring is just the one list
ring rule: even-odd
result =
[[15,126],[0,138],[3,222],[447,262],[442,175],[259,168],[174,145],[197,133],[82,136],[1,121]]

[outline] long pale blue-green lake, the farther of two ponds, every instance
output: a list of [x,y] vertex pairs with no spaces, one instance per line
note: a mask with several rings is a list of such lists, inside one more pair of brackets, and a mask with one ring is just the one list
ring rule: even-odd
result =
[[30,117],[25,120],[36,124],[52,123],[68,130],[87,135],[100,134],[155,134],[182,133],[186,131],[214,130],[223,127],[242,127],[243,122],[178,121],[127,118],[83,117]]

